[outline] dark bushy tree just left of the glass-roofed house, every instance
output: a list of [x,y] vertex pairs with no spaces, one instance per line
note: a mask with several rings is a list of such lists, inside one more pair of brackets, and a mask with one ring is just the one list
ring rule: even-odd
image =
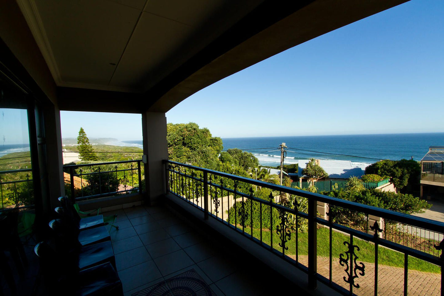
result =
[[414,160],[401,159],[400,161],[381,160],[365,168],[365,174],[377,174],[383,178],[390,178],[396,188],[404,188],[409,192],[419,184],[421,167]]

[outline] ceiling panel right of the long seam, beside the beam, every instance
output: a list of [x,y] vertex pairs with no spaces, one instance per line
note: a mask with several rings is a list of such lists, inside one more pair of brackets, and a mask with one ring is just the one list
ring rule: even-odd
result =
[[[190,26],[144,12],[111,84],[118,87],[143,87],[161,63],[174,62],[172,56],[194,31]],[[168,61],[169,60],[169,61]]]

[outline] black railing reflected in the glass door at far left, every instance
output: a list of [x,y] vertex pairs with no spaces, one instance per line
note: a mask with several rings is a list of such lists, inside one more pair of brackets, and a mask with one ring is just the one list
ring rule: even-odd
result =
[[34,206],[31,169],[0,171],[0,210]]

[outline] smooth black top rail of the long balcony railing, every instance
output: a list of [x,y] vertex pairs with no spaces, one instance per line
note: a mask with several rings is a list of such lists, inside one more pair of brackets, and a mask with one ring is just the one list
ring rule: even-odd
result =
[[[431,219],[427,219],[427,218],[423,218],[423,217],[416,217],[416,216],[412,216],[409,214],[391,211],[388,209],[381,209],[381,208],[377,208],[377,207],[374,207],[371,205],[363,205],[363,204],[360,204],[360,203],[357,203],[354,201],[347,201],[347,200],[336,198],[336,197],[329,197],[327,195],[321,195],[319,193],[311,193],[311,192],[308,192],[305,190],[299,190],[299,189],[290,188],[287,186],[275,185],[272,183],[263,182],[263,181],[250,179],[250,178],[245,178],[245,177],[241,177],[241,176],[237,176],[237,175],[233,175],[233,174],[222,173],[222,172],[218,172],[215,170],[204,169],[204,168],[201,168],[198,166],[191,166],[191,165],[187,165],[187,164],[184,164],[181,162],[174,162],[174,161],[170,161],[170,160],[164,160],[164,162],[168,162],[170,164],[186,167],[186,168],[189,168],[192,170],[200,170],[202,172],[206,172],[206,173],[213,174],[213,175],[218,175],[220,177],[230,178],[230,179],[233,179],[233,180],[236,180],[239,182],[246,182],[246,183],[249,183],[252,185],[258,185],[258,186],[266,187],[266,188],[269,188],[272,190],[277,190],[280,192],[285,192],[285,193],[305,197],[308,199],[314,198],[317,201],[322,201],[322,202],[328,203],[330,205],[336,205],[339,207],[343,207],[343,208],[347,208],[347,209],[351,209],[351,210],[355,210],[355,211],[361,211],[364,213],[372,214],[377,217],[387,218],[392,221],[424,228],[427,230],[432,230],[432,231],[438,232],[438,233],[444,233],[444,223],[440,222],[440,221],[435,221],[435,220],[431,220]],[[292,211],[291,209],[289,209],[289,210]]]

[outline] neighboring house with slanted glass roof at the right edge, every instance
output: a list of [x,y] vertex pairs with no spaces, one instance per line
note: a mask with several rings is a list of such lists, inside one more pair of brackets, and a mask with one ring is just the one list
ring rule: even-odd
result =
[[427,196],[434,193],[444,193],[444,146],[430,146],[427,154],[421,159],[421,189],[423,196],[424,186]]

